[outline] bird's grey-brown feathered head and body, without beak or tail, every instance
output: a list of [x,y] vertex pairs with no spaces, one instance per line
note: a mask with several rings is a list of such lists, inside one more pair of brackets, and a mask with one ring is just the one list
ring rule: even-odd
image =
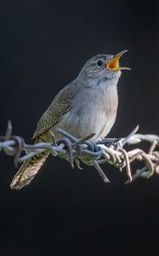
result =
[[116,119],[118,97],[116,84],[121,71],[107,71],[97,61],[110,61],[112,55],[96,55],[86,62],[82,71],[67,84],[48,107],[37,124],[33,139],[43,132],[53,131],[60,137],[57,127],[76,137],[95,133],[93,139],[105,137]]

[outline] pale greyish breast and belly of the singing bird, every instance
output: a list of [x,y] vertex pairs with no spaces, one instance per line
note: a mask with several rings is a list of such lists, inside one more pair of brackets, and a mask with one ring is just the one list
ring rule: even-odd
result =
[[59,126],[76,137],[95,133],[94,139],[105,137],[116,119],[118,104],[116,86],[82,90],[74,98],[72,108],[65,113]]

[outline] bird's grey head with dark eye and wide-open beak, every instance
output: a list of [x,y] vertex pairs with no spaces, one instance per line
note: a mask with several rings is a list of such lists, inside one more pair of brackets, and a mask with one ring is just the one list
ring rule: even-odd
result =
[[127,51],[124,49],[117,55],[95,55],[85,63],[79,76],[86,79],[119,79],[122,70],[130,70],[119,64],[121,56]]

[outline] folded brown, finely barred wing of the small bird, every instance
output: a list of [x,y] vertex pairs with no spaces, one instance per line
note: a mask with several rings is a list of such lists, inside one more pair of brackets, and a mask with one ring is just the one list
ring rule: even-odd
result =
[[[72,107],[72,98],[76,96],[80,81],[74,80],[67,84],[57,96],[54,97],[53,102],[48,109],[43,113],[43,116],[37,123],[37,129],[33,134],[32,139],[35,140],[43,133],[46,133],[56,123],[60,121],[62,116],[67,113]],[[81,89],[81,88],[80,88]]]

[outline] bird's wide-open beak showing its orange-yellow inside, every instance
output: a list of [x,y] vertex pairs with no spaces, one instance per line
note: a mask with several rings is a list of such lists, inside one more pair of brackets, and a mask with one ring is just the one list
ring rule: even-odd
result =
[[119,60],[121,56],[127,52],[128,49],[123,49],[120,51],[111,61],[109,61],[106,65],[105,68],[110,68],[113,71],[119,71],[119,70],[131,70],[129,67],[119,67]]

